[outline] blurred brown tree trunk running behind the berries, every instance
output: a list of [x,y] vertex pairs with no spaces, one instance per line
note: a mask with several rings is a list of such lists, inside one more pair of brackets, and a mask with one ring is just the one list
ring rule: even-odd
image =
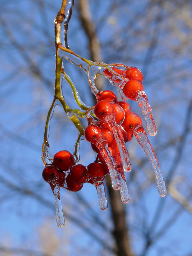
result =
[[[84,28],[88,40],[90,57],[92,61],[102,62],[101,46],[96,35],[95,24],[92,22],[88,0],[79,0],[80,4],[80,20]],[[102,77],[103,78],[103,77]],[[96,87],[98,90],[104,89],[104,81],[96,79]],[[94,97],[96,103],[96,98]],[[113,236],[116,241],[118,256],[133,256],[131,251],[130,239],[128,236],[128,228],[126,223],[125,206],[121,201],[119,191],[115,191],[111,186],[110,176],[106,176],[107,188],[111,204],[112,220],[114,222]]]

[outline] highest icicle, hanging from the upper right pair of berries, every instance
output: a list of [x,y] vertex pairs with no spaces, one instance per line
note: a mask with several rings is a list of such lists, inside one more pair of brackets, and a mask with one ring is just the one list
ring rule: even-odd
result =
[[137,97],[137,103],[138,103],[139,107],[141,108],[142,113],[144,115],[145,122],[147,125],[147,130],[148,130],[150,136],[155,136],[157,134],[157,128],[155,125],[155,121],[153,119],[152,109],[147,100],[147,96],[143,90],[141,90],[139,92],[139,95]]

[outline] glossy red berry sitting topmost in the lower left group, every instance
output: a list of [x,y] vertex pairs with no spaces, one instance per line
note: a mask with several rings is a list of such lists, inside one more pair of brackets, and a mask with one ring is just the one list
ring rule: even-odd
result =
[[65,172],[75,164],[75,158],[69,151],[62,150],[54,155],[53,164],[59,170]]

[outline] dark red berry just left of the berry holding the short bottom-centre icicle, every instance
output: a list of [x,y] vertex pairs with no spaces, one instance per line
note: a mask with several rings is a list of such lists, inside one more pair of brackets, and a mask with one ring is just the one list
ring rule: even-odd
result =
[[77,184],[85,183],[88,180],[88,171],[84,165],[78,164],[70,170],[71,178]]

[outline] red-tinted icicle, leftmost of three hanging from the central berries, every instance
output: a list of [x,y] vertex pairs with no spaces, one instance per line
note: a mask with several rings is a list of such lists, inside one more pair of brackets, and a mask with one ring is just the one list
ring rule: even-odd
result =
[[113,189],[114,190],[119,190],[119,188],[120,188],[120,179],[119,179],[119,174],[118,174],[117,167],[115,165],[115,160],[111,156],[107,145],[100,144],[97,147],[98,147],[98,149],[99,149],[102,157],[104,158],[105,163],[106,163],[106,165],[109,169]]

